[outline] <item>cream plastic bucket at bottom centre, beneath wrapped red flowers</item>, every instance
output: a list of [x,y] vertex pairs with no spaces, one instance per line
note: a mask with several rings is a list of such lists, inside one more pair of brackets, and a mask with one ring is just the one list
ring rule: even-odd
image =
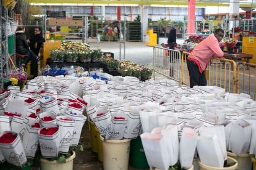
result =
[[104,170],[128,170],[130,140],[105,140],[103,137],[100,137],[100,139],[103,141]]

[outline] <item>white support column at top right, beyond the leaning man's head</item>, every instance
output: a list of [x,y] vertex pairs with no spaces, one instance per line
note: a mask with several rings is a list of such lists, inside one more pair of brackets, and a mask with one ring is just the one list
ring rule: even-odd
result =
[[237,19],[236,22],[229,22],[229,30],[231,30],[234,26],[239,26],[239,0],[229,0],[229,19]]

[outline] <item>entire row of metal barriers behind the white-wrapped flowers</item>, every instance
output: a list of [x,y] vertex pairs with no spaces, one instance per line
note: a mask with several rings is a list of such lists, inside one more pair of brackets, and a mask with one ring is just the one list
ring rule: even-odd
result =
[[[181,55],[179,51],[154,47],[154,79],[156,72],[167,78],[179,81],[181,85],[189,86],[187,57],[189,57],[188,52],[182,52]],[[175,71],[173,76],[170,70]],[[251,99],[256,99],[256,64],[246,62],[236,63],[234,60],[215,57],[209,62],[207,70],[205,70],[205,76],[208,86],[218,86],[226,89],[226,92],[237,94],[242,92],[249,94]]]

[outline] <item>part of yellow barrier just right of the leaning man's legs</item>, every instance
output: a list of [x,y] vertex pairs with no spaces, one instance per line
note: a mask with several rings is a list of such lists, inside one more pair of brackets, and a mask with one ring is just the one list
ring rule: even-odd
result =
[[218,86],[227,92],[236,92],[236,62],[213,58],[208,65],[206,77],[209,86]]

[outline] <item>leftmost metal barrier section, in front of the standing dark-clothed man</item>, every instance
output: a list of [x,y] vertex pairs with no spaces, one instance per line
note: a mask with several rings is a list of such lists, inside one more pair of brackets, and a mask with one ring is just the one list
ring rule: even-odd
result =
[[155,73],[181,82],[181,52],[163,47],[153,49],[153,78]]

